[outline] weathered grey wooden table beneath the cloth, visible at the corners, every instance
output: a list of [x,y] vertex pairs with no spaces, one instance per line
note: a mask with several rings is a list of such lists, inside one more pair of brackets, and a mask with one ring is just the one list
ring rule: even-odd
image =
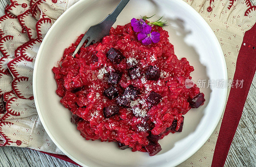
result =
[[[0,16],[4,15],[4,7],[8,0],[0,0]],[[256,165],[256,77],[244,105],[242,118],[231,144],[225,166]],[[17,147],[0,148],[0,167],[77,167],[72,163],[48,156],[35,150]]]

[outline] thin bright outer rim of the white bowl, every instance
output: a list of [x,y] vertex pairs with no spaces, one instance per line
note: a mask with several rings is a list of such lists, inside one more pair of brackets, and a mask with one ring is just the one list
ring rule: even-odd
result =
[[[40,45],[40,47],[39,47],[39,50],[38,50],[38,52],[37,52],[36,61],[35,61],[35,65],[34,65],[34,71],[33,71],[33,94],[34,94],[34,100],[35,100],[35,105],[36,105],[36,110],[37,110],[38,116],[39,116],[39,118],[40,118],[40,120],[41,120],[41,122],[42,122],[42,124],[43,124],[43,127],[44,127],[45,131],[47,132],[47,134],[49,135],[49,137],[51,138],[51,140],[52,140],[52,141],[56,144],[56,146],[57,146],[65,155],[67,155],[70,159],[72,159],[74,162],[76,162],[77,164],[79,164],[79,165],[81,165],[81,166],[86,166],[86,167],[87,167],[86,164],[84,164],[84,163],[78,161],[74,156],[72,156],[71,154],[69,154],[68,151],[67,151],[65,148],[61,147],[60,144],[55,140],[55,138],[54,138],[54,137],[52,136],[52,134],[50,133],[49,129],[48,129],[47,126],[46,126],[45,121],[43,120],[42,113],[41,113],[40,108],[39,108],[39,105],[38,105],[38,103],[37,103],[37,98],[38,98],[38,97],[37,97],[37,93],[36,93],[36,86],[34,86],[34,85],[36,85],[36,72],[37,72],[37,66],[38,66],[38,63],[39,63],[39,57],[40,57],[41,52],[42,52],[42,50],[43,50],[44,43],[47,42],[46,39],[47,39],[47,37],[49,36],[50,32],[51,32],[52,29],[55,27],[55,25],[58,24],[58,22],[61,21],[61,18],[62,18],[62,17],[64,17],[69,11],[72,11],[73,9],[75,9],[76,6],[78,6],[78,5],[80,5],[80,4],[83,4],[83,3],[86,2],[86,1],[89,1],[89,0],[80,0],[80,1],[76,2],[75,4],[73,4],[70,8],[68,8],[67,11],[65,11],[63,14],[61,14],[61,16],[54,22],[54,24],[51,26],[51,28],[50,28],[50,29],[48,30],[48,32],[46,33],[46,35],[45,35],[45,37],[44,37],[44,39],[43,39],[43,41],[42,41],[42,43],[41,43],[41,45]],[[187,4],[187,3],[184,2],[183,0],[179,0],[179,1],[180,1],[179,3],[181,3],[182,5],[184,5],[186,8],[192,9],[191,12],[194,12],[194,14],[198,16],[198,19],[201,20],[201,22],[204,24],[205,28],[207,28],[207,30],[211,33],[210,35],[212,36],[212,38],[214,39],[214,41],[217,43],[217,45],[218,45],[218,47],[219,47],[219,48],[217,48],[217,49],[221,52],[220,54],[221,54],[222,57],[223,57],[222,61],[220,61],[220,62],[222,62],[223,67],[225,67],[225,70],[223,71],[223,72],[224,72],[224,76],[226,76],[225,79],[228,79],[228,71],[227,71],[226,60],[225,60],[225,58],[224,58],[224,54],[223,54],[222,48],[221,48],[221,46],[220,46],[220,43],[219,43],[217,37],[215,36],[215,34],[213,33],[211,27],[208,25],[208,23],[204,20],[204,18],[203,18],[194,8],[192,8],[189,4]],[[225,88],[223,91],[224,91],[224,94],[226,95],[226,99],[227,99],[227,97],[228,97],[228,88]],[[219,119],[218,119],[218,120],[220,120],[220,118],[221,118],[221,116],[222,116],[222,114],[223,114],[223,112],[224,112],[224,109],[225,109],[225,106],[226,106],[226,101],[224,101],[221,105],[222,105],[222,107],[221,107],[221,108],[222,108],[222,112],[219,114]],[[191,157],[192,155],[194,155],[194,154],[204,145],[204,143],[210,138],[210,136],[211,136],[212,133],[214,132],[215,128],[217,127],[218,123],[219,123],[219,121],[216,121],[216,122],[215,122],[215,125],[213,126],[213,128],[209,130],[209,132],[211,132],[211,133],[207,136],[206,140],[202,141],[201,145],[198,144],[198,146],[197,146],[197,148],[196,148],[196,151],[195,151],[195,150],[190,151],[190,153],[188,153],[187,156],[184,156],[183,158],[180,158],[180,159],[177,160],[177,162],[174,163],[173,165],[174,165],[174,166],[177,166],[177,165],[179,165],[180,163],[183,163],[184,161],[186,161],[186,160],[187,160],[189,157]]]

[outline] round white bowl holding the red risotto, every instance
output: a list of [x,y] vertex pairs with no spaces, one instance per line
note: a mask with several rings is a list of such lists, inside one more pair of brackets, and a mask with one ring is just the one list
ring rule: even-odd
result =
[[[205,104],[185,115],[183,131],[169,134],[159,143],[155,156],[131,149],[118,149],[114,142],[86,141],[76,125],[70,122],[71,112],[60,103],[52,67],[65,48],[91,25],[103,20],[116,7],[117,0],[80,0],[52,25],[38,51],[33,90],[36,109],[53,142],[72,160],[82,166],[176,166],[192,156],[208,140],[224,110],[227,88],[203,88]],[[175,54],[186,57],[198,79],[227,79],[227,68],[220,44],[204,19],[181,0],[131,0],[116,20],[124,25],[132,18],[164,15],[169,27],[170,42]]]

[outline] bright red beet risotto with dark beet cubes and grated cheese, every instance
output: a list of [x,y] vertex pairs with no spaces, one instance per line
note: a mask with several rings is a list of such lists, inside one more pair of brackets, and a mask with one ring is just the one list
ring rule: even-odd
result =
[[159,41],[144,45],[131,23],[112,27],[73,58],[81,35],[53,67],[60,102],[86,140],[153,156],[161,151],[158,140],[182,131],[182,115],[204,104],[199,88],[185,85],[193,66],[174,54],[167,31],[155,25],[151,31],[159,32]]

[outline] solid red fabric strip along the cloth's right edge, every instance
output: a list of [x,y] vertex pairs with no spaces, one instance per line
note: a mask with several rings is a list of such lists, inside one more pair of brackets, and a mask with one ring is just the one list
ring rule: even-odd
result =
[[[245,45],[244,45],[245,43]],[[254,49],[253,49],[254,47]],[[234,81],[244,80],[242,88],[231,88],[212,159],[212,167],[224,166],[236,133],[244,103],[256,70],[256,24],[244,34],[236,61]]]

